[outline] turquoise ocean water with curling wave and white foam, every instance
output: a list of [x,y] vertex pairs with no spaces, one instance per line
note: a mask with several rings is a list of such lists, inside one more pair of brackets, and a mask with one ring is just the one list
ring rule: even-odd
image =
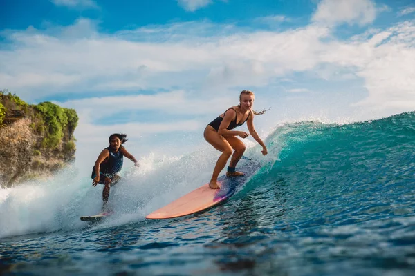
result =
[[145,219],[210,179],[219,155],[208,146],[124,170],[116,215],[100,224],[79,217],[99,212],[102,186],[75,168],[0,190],[0,274],[415,274],[414,112],[280,124],[266,157],[251,144],[255,175],[188,217]]

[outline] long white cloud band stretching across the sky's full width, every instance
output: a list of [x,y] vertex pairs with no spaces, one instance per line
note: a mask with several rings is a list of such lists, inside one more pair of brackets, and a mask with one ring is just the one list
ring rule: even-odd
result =
[[[88,92],[106,108],[110,101],[120,100],[124,101],[120,108],[126,110],[151,108],[167,114],[201,115],[210,108],[216,112],[217,104],[210,99],[219,95],[223,95],[221,101],[231,103],[229,99],[241,88],[265,89],[277,80],[295,79],[295,73],[304,72],[331,84],[360,79],[369,95],[360,104],[367,108],[400,106],[400,110],[408,110],[414,105],[413,22],[368,30],[348,41],[331,37],[333,29],[318,24],[282,32],[254,32],[227,25],[236,31],[217,36],[207,31],[209,35],[203,38],[183,28],[192,28],[192,24],[178,23],[177,28],[169,24],[165,26],[168,31],[163,26],[147,26],[146,31],[140,28],[109,35],[100,34],[93,21],[80,19],[64,28],[9,31],[10,44],[0,50],[0,63],[8,65],[0,68],[0,83],[26,101]],[[205,27],[194,24],[201,32],[215,27],[213,23]],[[146,41],[146,33],[161,33],[163,39],[155,36]],[[299,86],[306,88],[306,83]],[[116,93],[138,94],[142,90],[154,95],[118,98]],[[176,92],[156,93],[159,91]],[[102,92],[113,96],[100,99]],[[179,108],[170,110],[165,97]],[[91,99],[66,104],[87,110]],[[210,108],[203,109],[205,106]],[[90,114],[95,113],[98,111]]]

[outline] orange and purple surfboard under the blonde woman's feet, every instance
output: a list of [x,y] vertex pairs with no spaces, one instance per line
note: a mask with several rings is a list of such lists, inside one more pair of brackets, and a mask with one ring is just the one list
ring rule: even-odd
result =
[[183,217],[185,215],[192,215],[206,210],[212,206],[220,204],[225,201],[242,186],[259,166],[249,164],[249,166],[242,166],[240,171],[245,175],[242,177],[220,177],[218,184],[221,186],[219,190],[209,188],[209,184],[205,184],[196,190],[183,195],[173,201],[167,206],[164,206],[153,213],[147,215],[146,219],[172,219],[174,217]]

